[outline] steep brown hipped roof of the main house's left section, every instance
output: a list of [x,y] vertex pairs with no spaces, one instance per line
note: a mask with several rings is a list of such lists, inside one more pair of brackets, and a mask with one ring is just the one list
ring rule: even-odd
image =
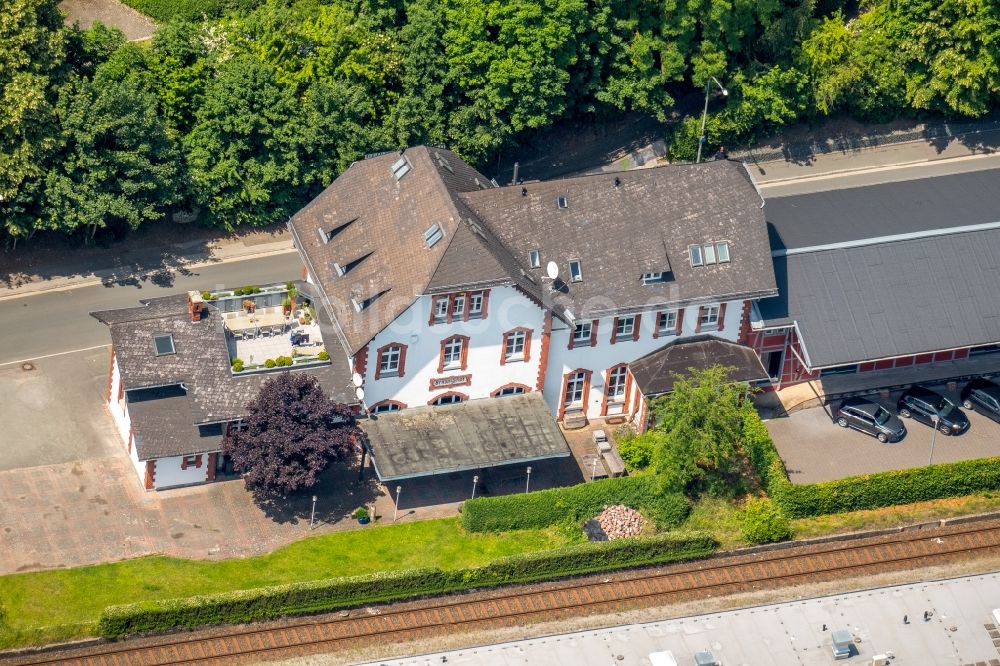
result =
[[[429,285],[505,279],[492,253],[465,228],[463,210],[456,205],[456,192],[492,187],[489,179],[443,148],[419,146],[404,156],[412,168],[398,181],[391,167],[399,153],[356,162],[289,222],[351,354]],[[348,222],[323,243],[320,229],[330,232]],[[440,225],[444,238],[427,248],[424,233],[433,224]],[[363,256],[344,276],[333,268],[334,262],[347,267]],[[355,311],[352,297],[363,300],[380,292],[370,307]]]

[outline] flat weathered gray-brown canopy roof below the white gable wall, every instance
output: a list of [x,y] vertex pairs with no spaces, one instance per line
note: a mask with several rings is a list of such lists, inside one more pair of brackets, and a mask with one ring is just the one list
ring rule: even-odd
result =
[[571,455],[541,393],[416,407],[360,424],[383,482]]

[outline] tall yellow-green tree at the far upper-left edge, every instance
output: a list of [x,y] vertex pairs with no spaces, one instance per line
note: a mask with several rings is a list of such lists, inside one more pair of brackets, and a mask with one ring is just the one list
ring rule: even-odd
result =
[[15,238],[38,227],[42,183],[59,143],[56,87],[65,32],[55,0],[5,0],[0,11],[0,224]]

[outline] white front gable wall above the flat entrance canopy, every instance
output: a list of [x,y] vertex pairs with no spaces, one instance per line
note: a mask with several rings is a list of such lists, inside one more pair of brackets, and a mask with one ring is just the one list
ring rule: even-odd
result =
[[[431,296],[421,296],[392,324],[368,344],[365,371],[365,401],[374,405],[382,400],[396,400],[407,407],[426,405],[435,397],[454,391],[469,399],[489,397],[505,384],[524,384],[535,389],[542,347],[544,313],[541,308],[513,287],[490,290],[486,317],[429,325]],[[500,364],[503,334],[511,329],[531,329],[527,361]],[[452,335],[469,336],[465,370],[438,372],[441,342]],[[389,344],[407,345],[403,377],[375,379],[378,349]],[[433,378],[471,375],[471,384],[431,390]]]

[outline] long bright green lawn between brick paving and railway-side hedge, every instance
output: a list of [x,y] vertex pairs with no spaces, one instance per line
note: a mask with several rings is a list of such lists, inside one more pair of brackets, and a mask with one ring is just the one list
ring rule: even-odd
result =
[[246,559],[144,557],[14,574],[0,578],[0,602],[7,616],[6,628],[0,626],[0,648],[93,635],[101,610],[112,604],[383,570],[457,569],[556,548],[573,539],[557,529],[466,534],[457,518],[448,518],[311,537]]

